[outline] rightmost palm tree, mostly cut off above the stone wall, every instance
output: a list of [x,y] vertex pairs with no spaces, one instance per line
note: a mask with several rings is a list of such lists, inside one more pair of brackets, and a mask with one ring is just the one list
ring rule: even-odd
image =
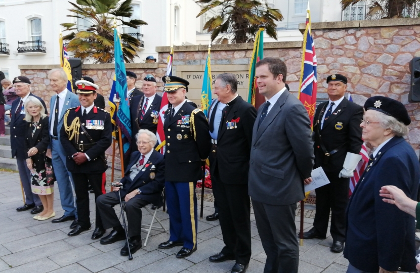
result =
[[[341,4],[343,10],[345,10],[350,5],[361,1],[363,0],[341,0]],[[410,10],[418,7],[418,4],[420,4],[419,0],[377,0],[368,6],[369,10],[366,13],[366,18],[403,18],[404,9],[411,13],[413,17],[417,17],[417,14],[410,12]]]

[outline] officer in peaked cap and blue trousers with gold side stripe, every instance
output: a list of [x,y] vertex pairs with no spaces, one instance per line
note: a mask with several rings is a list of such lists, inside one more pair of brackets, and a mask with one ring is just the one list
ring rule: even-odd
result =
[[164,76],[164,92],[172,104],[165,112],[165,194],[169,207],[171,237],[160,249],[183,246],[177,258],[197,250],[197,197],[195,187],[202,179],[202,162],[208,157],[211,138],[204,113],[187,103],[189,82]]

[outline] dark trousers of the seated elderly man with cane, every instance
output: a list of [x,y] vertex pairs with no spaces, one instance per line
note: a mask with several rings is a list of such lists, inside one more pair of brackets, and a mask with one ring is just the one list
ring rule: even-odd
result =
[[[121,196],[124,201],[124,196]],[[121,226],[118,216],[115,213],[114,206],[119,205],[118,192],[110,192],[100,195],[96,200],[96,207],[101,214],[104,229],[115,228]],[[129,237],[141,236],[142,233],[142,210],[141,208],[150,204],[143,200],[141,195],[136,195],[128,202],[125,202],[124,210],[127,213],[127,221],[129,222]]]

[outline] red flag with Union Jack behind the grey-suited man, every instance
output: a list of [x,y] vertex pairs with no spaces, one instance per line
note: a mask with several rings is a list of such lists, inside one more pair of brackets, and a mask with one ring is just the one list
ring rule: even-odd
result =
[[311,120],[311,127],[313,125],[316,105],[316,56],[315,44],[311,35],[311,14],[308,10],[306,16],[306,28],[303,40],[303,54],[301,79],[299,85],[299,100],[303,103],[309,114]]

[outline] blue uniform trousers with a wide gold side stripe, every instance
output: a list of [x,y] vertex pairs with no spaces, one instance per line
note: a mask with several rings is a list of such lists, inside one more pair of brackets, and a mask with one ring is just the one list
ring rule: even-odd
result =
[[193,249],[197,243],[196,182],[165,182],[166,204],[169,208],[170,241],[184,242]]

